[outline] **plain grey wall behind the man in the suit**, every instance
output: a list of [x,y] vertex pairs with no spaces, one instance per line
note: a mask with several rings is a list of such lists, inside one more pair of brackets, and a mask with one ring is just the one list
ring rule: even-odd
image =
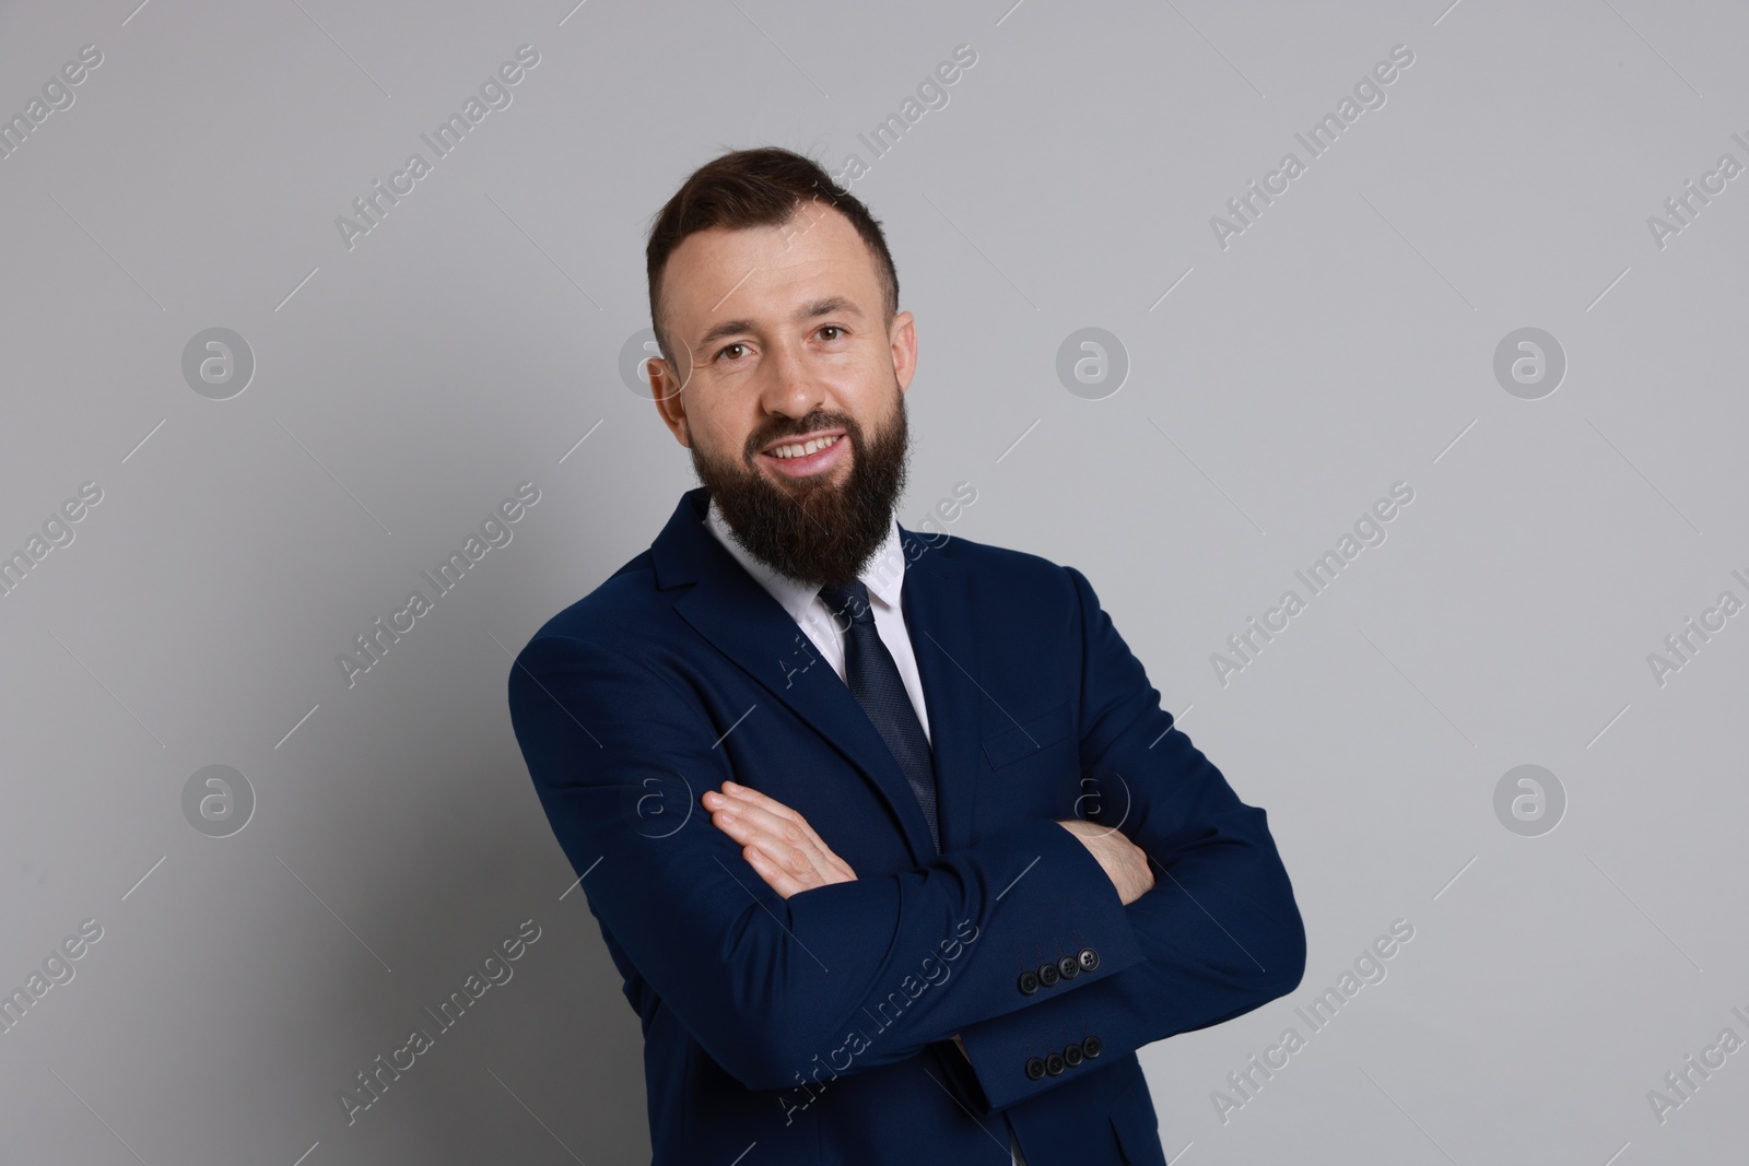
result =
[[[920,334],[901,521],[969,481],[953,533],[1083,568],[1270,811],[1307,979],[1142,1054],[1167,1154],[1742,1156],[1749,1054],[1663,1124],[1646,1098],[1749,1038],[1749,617],[1663,685],[1646,659],[1749,598],[1749,178],[1663,248],[1646,224],[1749,163],[1740,7],[135,3],[0,7],[0,114],[103,52],[0,161],[0,551],[103,489],[0,598],[0,986],[103,927],[0,1035],[0,1159],[647,1157],[637,1023],[504,682],[693,484],[616,364],[649,217],[759,143],[871,161]],[[521,44],[512,105],[348,250],[336,215]],[[1210,215],[1397,44],[1387,103],[1223,250]],[[182,378],[210,327],[255,357],[229,400]],[[1056,378],[1083,327],[1128,353],[1102,400]],[[1494,378],[1520,327],[1567,357],[1541,400]],[[336,654],[521,481],[512,542],[348,689]],[[1389,540],[1223,687],[1210,654],[1396,481]],[[229,837],[182,813],[212,764],[255,794]],[[1520,764],[1565,790],[1539,837],[1495,818]],[[530,918],[348,1128],[336,1093]],[[1226,1073],[1399,918],[1389,977],[1223,1122]]]

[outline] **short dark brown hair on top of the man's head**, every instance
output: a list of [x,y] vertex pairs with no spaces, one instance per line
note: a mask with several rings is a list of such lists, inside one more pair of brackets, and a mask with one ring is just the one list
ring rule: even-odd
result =
[[899,313],[899,273],[887,250],[880,220],[859,198],[845,191],[819,163],[775,145],[733,150],[705,163],[680,184],[651,224],[644,250],[651,292],[651,327],[666,360],[673,360],[661,330],[661,278],[673,248],[689,234],[722,227],[778,227],[801,203],[819,201],[845,215],[874,257],[874,274],[885,299],[887,323]]

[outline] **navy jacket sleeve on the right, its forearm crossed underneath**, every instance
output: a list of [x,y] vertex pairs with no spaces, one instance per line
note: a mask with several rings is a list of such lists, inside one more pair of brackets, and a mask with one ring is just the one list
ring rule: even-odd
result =
[[1305,972],[1305,927],[1265,811],[1242,802],[1174,727],[1093,587],[1065,570],[1081,600],[1086,816],[1121,829],[1154,864],[1154,888],[1125,907],[1146,961],[964,1030],[993,1108],[1074,1079],[1070,1070],[1034,1080],[1025,1072],[1034,1056],[1086,1037],[1102,1056],[1125,1056],[1242,1016],[1293,991]]

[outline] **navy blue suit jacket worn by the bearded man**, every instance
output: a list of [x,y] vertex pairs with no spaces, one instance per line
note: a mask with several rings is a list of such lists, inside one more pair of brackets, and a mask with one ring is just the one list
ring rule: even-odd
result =
[[[1163,1163],[1135,1051],[1305,967],[1265,811],[1174,727],[1079,572],[901,528],[937,857],[874,725],[705,502],[687,491],[509,677],[642,1017],[654,1161],[1006,1164],[1006,1114],[1030,1166]],[[857,879],[770,890],[700,806],[726,780],[799,811]],[[1058,825],[1077,816],[1142,846],[1156,886],[1123,906]]]

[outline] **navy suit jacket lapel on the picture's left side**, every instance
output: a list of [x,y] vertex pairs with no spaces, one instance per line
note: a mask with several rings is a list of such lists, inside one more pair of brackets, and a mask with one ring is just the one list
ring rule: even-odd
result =
[[[887,743],[838,673],[813,652],[808,636],[789,612],[705,530],[705,502],[703,488],[687,491],[668,526],[651,545],[658,586],[668,589],[691,582],[691,591],[675,601],[675,612],[764,687],[775,701],[791,708],[831,741],[874,785],[899,822],[915,862],[934,858],[929,823]],[[911,610],[909,582],[908,575],[906,619]],[[922,670],[922,661],[918,668]],[[929,689],[925,673],[925,699]],[[934,727],[932,699],[929,708]],[[757,703],[750,715],[759,715]]]

